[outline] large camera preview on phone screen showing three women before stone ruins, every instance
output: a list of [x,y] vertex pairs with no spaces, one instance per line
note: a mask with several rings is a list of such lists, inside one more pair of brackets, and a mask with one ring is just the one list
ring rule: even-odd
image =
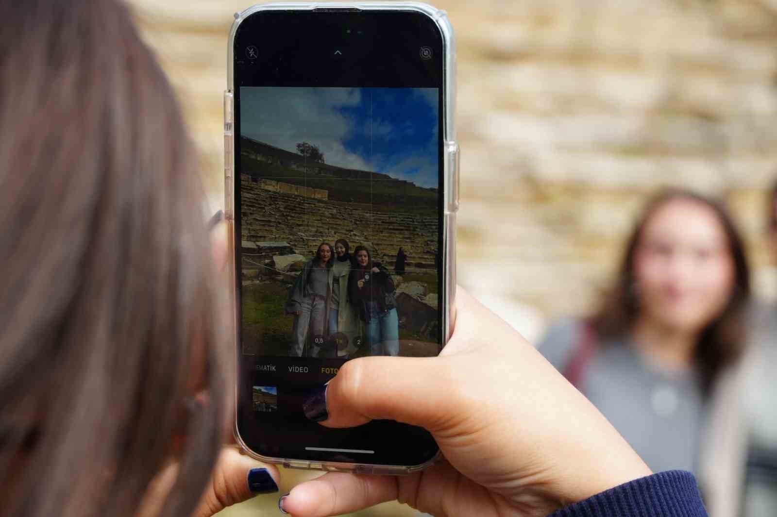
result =
[[436,356],[437,88],[240,88],[242,351]]

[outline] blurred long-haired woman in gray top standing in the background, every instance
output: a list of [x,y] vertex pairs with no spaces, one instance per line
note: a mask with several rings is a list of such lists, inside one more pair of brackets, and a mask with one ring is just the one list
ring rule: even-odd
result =
[[713,385],[740,356],[750,280],[722,204],[668,190],[646,206],[614,289],[539,350],[654,471],[697,470]]

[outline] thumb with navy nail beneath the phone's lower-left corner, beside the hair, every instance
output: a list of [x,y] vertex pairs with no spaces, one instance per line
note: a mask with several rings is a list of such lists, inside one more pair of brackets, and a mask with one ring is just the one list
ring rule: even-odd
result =
[[277,492],[279,479],[277,467],[225,447],[193,517],[211,517],[256,495]]

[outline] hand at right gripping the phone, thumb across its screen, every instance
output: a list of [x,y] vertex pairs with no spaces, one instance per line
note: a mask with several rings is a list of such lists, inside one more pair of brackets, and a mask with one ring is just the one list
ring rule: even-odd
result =
[[599,411],[500,317],[463,292],[436,358],[364,358],[326,390],[329,428],[422,425],[445,460],[401,477],[325,474],[283,499],[299,517],[397,499],[447,517],[545,517],[650,469]]

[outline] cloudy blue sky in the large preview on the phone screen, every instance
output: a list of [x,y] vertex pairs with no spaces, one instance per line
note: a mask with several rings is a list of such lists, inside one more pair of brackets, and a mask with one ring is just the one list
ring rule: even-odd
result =
[[240,90],[242,135],[286,151],[319,147],[330,165],[437,187],[437,88]]

